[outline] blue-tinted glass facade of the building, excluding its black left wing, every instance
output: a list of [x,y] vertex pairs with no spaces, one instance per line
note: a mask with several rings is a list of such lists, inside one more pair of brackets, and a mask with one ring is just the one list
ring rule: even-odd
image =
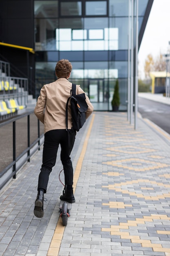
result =
[[[117,78],[120,110],[127,110],[129,26],[132,15],[136,22],[135,2],[35,0],[37,94],[43,84],[56,79],[56,62],[66,58],[73,65],[70,81],[81,85],[95,110],[111,110]],[[139,34],[152,2],[139,0]]]

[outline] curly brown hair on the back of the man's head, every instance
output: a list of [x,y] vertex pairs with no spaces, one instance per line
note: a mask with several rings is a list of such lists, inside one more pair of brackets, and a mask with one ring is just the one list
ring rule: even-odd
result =
[[66,59],[62,59],[62,60],[58,61],[55,66],[55,74],[56,74],[57,78],[59,78],[59,77],[67,78],[70,75],[71,70],[72,70],[72,65]]

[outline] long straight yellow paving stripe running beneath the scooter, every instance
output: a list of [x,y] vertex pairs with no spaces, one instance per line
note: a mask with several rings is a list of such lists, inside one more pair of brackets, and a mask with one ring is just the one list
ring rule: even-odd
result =
[[[82,163],[83,163],[84,155],[86,153],[86,149],[87,149],[87,146],[88,146],[88,139],[89,139],[90,134],[91,134],[91,129],[92,129],[92,126],[93,126],[94,118],[95,118],[95,115],[93,114],[90,126],[89,126],[87,134],[86,134],[86,138],[84,140],[82,152],[79,156],[79,159],[77,161],[77,166],[75,168],[74,177],[73,177],[74,191],[75,191],[75,188],[76,188],[76,185],[77,185],[77,181],[79,179],[79,174],[80,174],[81,169],[82,169]],[[61,242],[62,242],[62,237],[63,237],[63,234],[64,234],[64,229],[65,229],[65,227],[62,225],[61,218],[59,218],[58,222],[57,222],[57,226],[55,228],[53,238],[52,238],[50,246],[49,246],[47,256],[58,256],[58,253],[59,253],[59,250],[60,250],[60,245],[61,245]]]

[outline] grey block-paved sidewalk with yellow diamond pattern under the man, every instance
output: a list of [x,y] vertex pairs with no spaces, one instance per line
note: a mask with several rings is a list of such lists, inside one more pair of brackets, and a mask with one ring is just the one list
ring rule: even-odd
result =
[[0,191],[0,256],[170,256],[170,135],[141,117],[134,130],[127,113],[94,112],[72,160],[76,202],[66,227],[60,153],[42,219],[33,215],[42,149]]

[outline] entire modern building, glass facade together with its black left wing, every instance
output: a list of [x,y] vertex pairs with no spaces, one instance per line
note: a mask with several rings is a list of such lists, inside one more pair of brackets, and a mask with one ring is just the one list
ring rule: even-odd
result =
[[35,98],[45,83],[56,79],[57,61],[68,59],[73,65],[70,81],[81,85],[95,110],[111,110],[118,78],[119,110],[126,111],[129,81],[131,87],[135,81],[136,39],[139,48],[152,3],[153,0],[0,0],[0,42],[35,50],[33,54],[0,45],[0,58],[11,63],[12,76],[20,76],[12,65],[22,71],[22,76],[25,74],[29,94]]

